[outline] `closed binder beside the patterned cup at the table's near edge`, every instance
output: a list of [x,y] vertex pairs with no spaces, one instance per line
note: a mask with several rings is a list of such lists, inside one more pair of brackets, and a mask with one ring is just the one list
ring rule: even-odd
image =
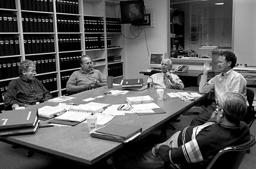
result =
[[141,132],[142,127],[111,123],[107,126],[90,131],[90,136],[99,139],[126,143],[129,138],[133,136],[135,138],[136,136],[140,135]]

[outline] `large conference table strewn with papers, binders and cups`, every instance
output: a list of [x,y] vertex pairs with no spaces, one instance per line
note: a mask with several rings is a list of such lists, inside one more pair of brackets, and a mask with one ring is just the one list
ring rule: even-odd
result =
[[[108,89],[107,86],[100,87],[94,90],[85,91],[79,94],[71,95],[76,99],[69,100],[65,103],[85,104],[89,102],[82,101],[82,99],[94,98],[110,90],[123,90],[121,86],[114,86]],[[104,97],[93,100],[92,102],[108,103],[108,104],[122,104],[126,103],[126,97],[150,95],[154,102],[159,105],[167,113],[154,115],[137,115],[126,114],[116,116],[109,123],[120,123],[127,125],[134,125],[142,127],[142,133],[137,138],[129,143],[119,143],[108,141],[104,139],[92,138],[89,135],[89,130],[86,123],[79,123],[72,127],[46,127],[38,128],[35,134],[32,135],[18,135],[18,136],[2,136],[0,141],[29,148],[43,154],[58,156],[65,159],[73,160],[78,163],[83,163],[88,166],[93,166],[101,160],[109,158],[113,153],[121,150],[123,147],[133,145],[139,140],[145,138],[147,135],[162,127],[175,115],[181,114],[190,107],[200,102],[207,97],[196,97],[194,101],[182,101],[180,98],[171,98],[167,95],[170,92],[178,92],[179,90],[165,89],[164,96],[166,100],[157,100],[156,90],[148,88],[143,91],[129,91],[125,95],[104,95]],[[189,92],[189,91],[188,91]],[[45,105],[56,106],[58,103],[44,102],[38,105],[27,107],[40,108]],[[17,115],[17,118],[18,115]],[[47,123],[47,121],[40,121],[40,124]]]

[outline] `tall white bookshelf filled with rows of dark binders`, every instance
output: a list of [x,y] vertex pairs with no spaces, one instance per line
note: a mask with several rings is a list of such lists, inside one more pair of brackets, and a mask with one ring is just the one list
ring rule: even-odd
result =
[[[92,58],[94,68],[100,70],[104,76],[111,75],[108,73],[109,68],[122,66],[122,71],[114,77],[114,82],[119,83],[124,78],[125,40],[121,30],[109,30],[109,26],[124,29],[117,23],[119,0],[114,2],[110,0],[4,0],[4,2],[8,2],[9,8],[0,6],[0,19],[2,19],[0,23],[3,23],[2,14],[15,15],[17,30],[4,31],[1,30],[0,25],[0,35],[1,38],[8,38],[8,40],[13,38],[11,42],[16,44],[14,51],[16,47],[17,53],[6,55],[5,51],[3,51],[4,54],[2,50],[0,51],[0,93],[8,89],[11,80],[18,78],[19,64],[25,59],[33,60],[37,64],[36,77],[53,96],[66,94],[65,83],[74,71],[81,68],[79,57],[84,54]],[[8,25],[8,22],[5,23]],[[88,31],[88,27],[91,26],[100,28]],[[0,42],[3,41],[1,45],[4,46],[5,41],[1,38]],[[96,45],[90,47],[89,38],[90,42]],[[40,45],[45,50],[41,50]],[[122,60],[108,62],[108,56],[114,55],[122,55]],[[6,69],[3,69],[3,64]],[[7,76],[6,73],[2,73],[9,70],[13,70],[13,74],[7,74]],[[3,74],[5,77],[2,77]]]

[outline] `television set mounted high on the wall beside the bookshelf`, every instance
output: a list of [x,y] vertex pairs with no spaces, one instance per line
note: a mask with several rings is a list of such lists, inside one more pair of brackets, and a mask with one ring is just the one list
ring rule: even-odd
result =
[[120,1],[121,23],[144,23],[144,1]]

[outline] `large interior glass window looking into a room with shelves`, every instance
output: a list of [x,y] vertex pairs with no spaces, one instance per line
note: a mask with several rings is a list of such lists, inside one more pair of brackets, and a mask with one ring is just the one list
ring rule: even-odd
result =
[[[175,50],[182,46],[185,51],[194,50],[196,54],[202,46],[231,50],[232,6],[233,0],[170,0],[171,49],[174,45]],[[180,14],[183,29],[175,26],[175,17]]]

